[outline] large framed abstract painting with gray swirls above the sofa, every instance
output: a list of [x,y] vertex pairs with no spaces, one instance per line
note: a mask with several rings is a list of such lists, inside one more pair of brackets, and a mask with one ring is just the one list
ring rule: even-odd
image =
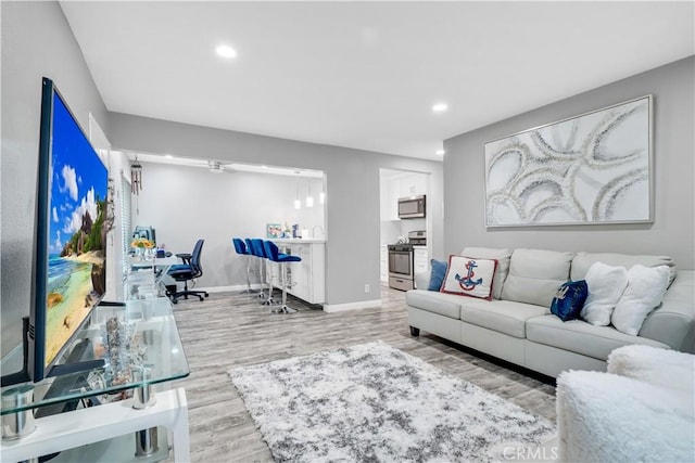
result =
[[652,100],[485,143],[486,226],[654,221]]

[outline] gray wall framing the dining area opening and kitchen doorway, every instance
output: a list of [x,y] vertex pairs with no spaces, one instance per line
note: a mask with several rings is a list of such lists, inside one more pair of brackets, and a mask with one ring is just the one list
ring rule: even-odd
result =
[[429,173],[430,242],[433,255],[441,254],[442,163],[127,114],[111,113],[110,117],[111,141],[118,150],[324,171],[328,205],[326,303],[329,305],[380,297],[374,291],[364,292],[365,284],[372,288],[380,284],[380,168]]

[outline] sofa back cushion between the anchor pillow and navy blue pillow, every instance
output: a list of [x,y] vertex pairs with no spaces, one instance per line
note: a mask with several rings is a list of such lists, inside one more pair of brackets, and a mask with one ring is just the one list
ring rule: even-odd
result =
[[557,288],[569,279],[572,253],[515,249],[502,298],[551,307]]

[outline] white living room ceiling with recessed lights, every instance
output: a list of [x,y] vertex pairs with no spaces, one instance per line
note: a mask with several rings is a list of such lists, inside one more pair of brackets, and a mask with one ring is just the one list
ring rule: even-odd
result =
[[695,53],[693,1],[61,5],[109,111],[429,159]]

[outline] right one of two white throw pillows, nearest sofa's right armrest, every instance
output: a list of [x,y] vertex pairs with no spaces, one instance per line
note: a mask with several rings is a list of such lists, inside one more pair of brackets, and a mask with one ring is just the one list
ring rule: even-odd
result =
[[628,287],[610,317],[618,331],[632,336],[640,333],[644,319],[664,299],[669,273],[667,266],[645,267],[640,263],[628,270]]

